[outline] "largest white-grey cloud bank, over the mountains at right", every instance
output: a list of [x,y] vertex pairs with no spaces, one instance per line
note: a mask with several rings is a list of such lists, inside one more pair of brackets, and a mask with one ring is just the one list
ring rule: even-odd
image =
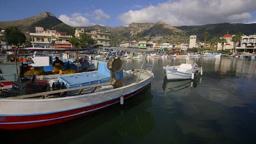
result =
[[119,16],[124,25],[156,23],[169,25],[205,25],[210,23],[243,23],[256,11],[255,0],[180,0],[167,1],[141,10],[130,10]]

